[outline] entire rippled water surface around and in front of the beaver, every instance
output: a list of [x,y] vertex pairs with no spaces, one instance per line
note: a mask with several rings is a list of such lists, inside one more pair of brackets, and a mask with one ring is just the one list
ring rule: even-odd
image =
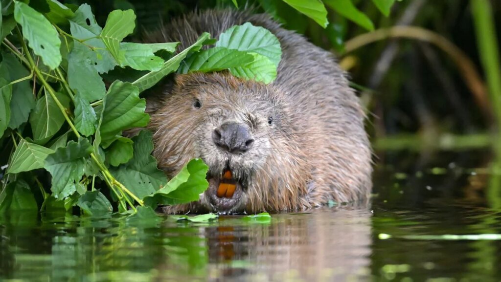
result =
[[6,216],[0,279],[501,281],[499,177],[485,169],[488,152],[388,153],[379,163],[370,205],[270,222]]

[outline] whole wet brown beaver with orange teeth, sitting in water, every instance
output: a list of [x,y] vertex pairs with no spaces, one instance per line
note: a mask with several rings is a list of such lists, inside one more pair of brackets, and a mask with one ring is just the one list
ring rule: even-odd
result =
[[[229,72],[176,74],[146,97],[159,168],[172,177],[192,158],[209,167],[209,187],[198,201],[164,211],[293,211],[366,200],[372,165],[365,115],[330,52],[268,15],[235,10],[192,12],[145,41],[178,41],[184,49],[203,32],[218,38],[247,22],[280,41],[282,59],[273,83]],[[221,188],[226,180],[232,191]]]

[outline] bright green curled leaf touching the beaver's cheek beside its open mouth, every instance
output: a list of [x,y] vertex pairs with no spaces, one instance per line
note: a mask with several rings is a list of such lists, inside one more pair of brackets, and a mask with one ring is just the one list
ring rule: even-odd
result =
[[193,159],[172,178],[164,187],[153,195],[144,198],[147,205],[182,204],[197,201],[207,187],[205,179],[208,166],[201,159]]

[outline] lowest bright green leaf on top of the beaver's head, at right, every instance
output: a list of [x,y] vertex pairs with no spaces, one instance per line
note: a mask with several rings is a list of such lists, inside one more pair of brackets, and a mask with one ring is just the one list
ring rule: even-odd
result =
[[230,68],[235,77],[269,84],[277,78],[277,67],[267,57],[251,53],[254,61],[241,67]]

